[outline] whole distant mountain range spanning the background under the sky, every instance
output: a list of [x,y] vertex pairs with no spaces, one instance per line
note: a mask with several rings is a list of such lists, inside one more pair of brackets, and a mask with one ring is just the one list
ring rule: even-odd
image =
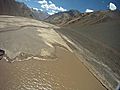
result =
[[46,12],[27,7],[24,3],[15,0],[0,0],[0,15],[13,15],[43,20],[58,26],[65,26],[79,22],[80,25],[90,25],[111,20],[120,20],[120,11],[95,11],[80,13],[78,10],[69,10],[48,15]]

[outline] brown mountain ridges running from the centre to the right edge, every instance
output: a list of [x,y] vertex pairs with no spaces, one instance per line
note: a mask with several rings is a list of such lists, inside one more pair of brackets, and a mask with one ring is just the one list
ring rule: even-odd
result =
[[65,26],[77,22],[79,22],[79,25],[91,25],[111,20],[120,20],[119,10],[95,11],[91,13],[80,13],[77,10],[70,10],[56,13],[45,19],[46,22],[59,26]]

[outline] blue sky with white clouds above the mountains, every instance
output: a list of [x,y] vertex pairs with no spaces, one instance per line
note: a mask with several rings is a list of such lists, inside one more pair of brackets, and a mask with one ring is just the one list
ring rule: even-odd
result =
[[120,0],[16,0],[28,7],[54,14],[59,11],[77,9],[80,12],[109,9],[110,3],[120,9]]

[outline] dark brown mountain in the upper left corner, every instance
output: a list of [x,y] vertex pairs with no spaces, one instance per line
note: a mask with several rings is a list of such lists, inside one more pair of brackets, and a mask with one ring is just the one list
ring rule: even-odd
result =
[[0,0],[0,14],[33,18],[31,10],[15,0]]

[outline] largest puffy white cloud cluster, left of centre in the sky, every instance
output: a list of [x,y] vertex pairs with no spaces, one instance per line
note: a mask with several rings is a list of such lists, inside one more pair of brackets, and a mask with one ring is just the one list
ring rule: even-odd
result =
[[41,8],[47,10],[50,15],[57,12],[66,11],[63,7],[56,6],[52,1],[47,2],[46,0],[40,0],[38,3],[41,4]]

